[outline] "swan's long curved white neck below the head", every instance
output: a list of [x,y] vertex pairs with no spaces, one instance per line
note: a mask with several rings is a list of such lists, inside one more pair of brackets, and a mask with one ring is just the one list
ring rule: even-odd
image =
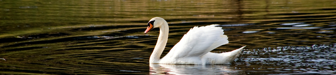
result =
[[163,50],[165,49],[168,41],[168,33],[169,33],[169,27],[167,22],[164,21],[164,23],[160,26],[159,39],[158,42],[156,43],[151,58],[149,59],[149,63],[159,63],[160,56]]

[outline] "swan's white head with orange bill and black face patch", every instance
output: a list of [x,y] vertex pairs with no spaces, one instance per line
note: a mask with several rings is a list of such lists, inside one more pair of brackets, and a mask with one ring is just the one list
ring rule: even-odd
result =
[[147,29],[145,31],[145,34],[149,31],[151,31],[153,28],[156,27],[160,27],[161,25],[163,25],[164,23],[167,23],[166,20],[164,20],[161,17],[154,17],[151,20],[149,20],[149,22],[147,23]]

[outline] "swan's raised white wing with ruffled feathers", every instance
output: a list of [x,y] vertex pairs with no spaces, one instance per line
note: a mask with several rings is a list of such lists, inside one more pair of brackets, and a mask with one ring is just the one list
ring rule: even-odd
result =
[[223,35],[222,27],[215,27],[217,25],[195,26],[190,29],[165,57],[201,57],[211,50],[227,44],[227,36]]

